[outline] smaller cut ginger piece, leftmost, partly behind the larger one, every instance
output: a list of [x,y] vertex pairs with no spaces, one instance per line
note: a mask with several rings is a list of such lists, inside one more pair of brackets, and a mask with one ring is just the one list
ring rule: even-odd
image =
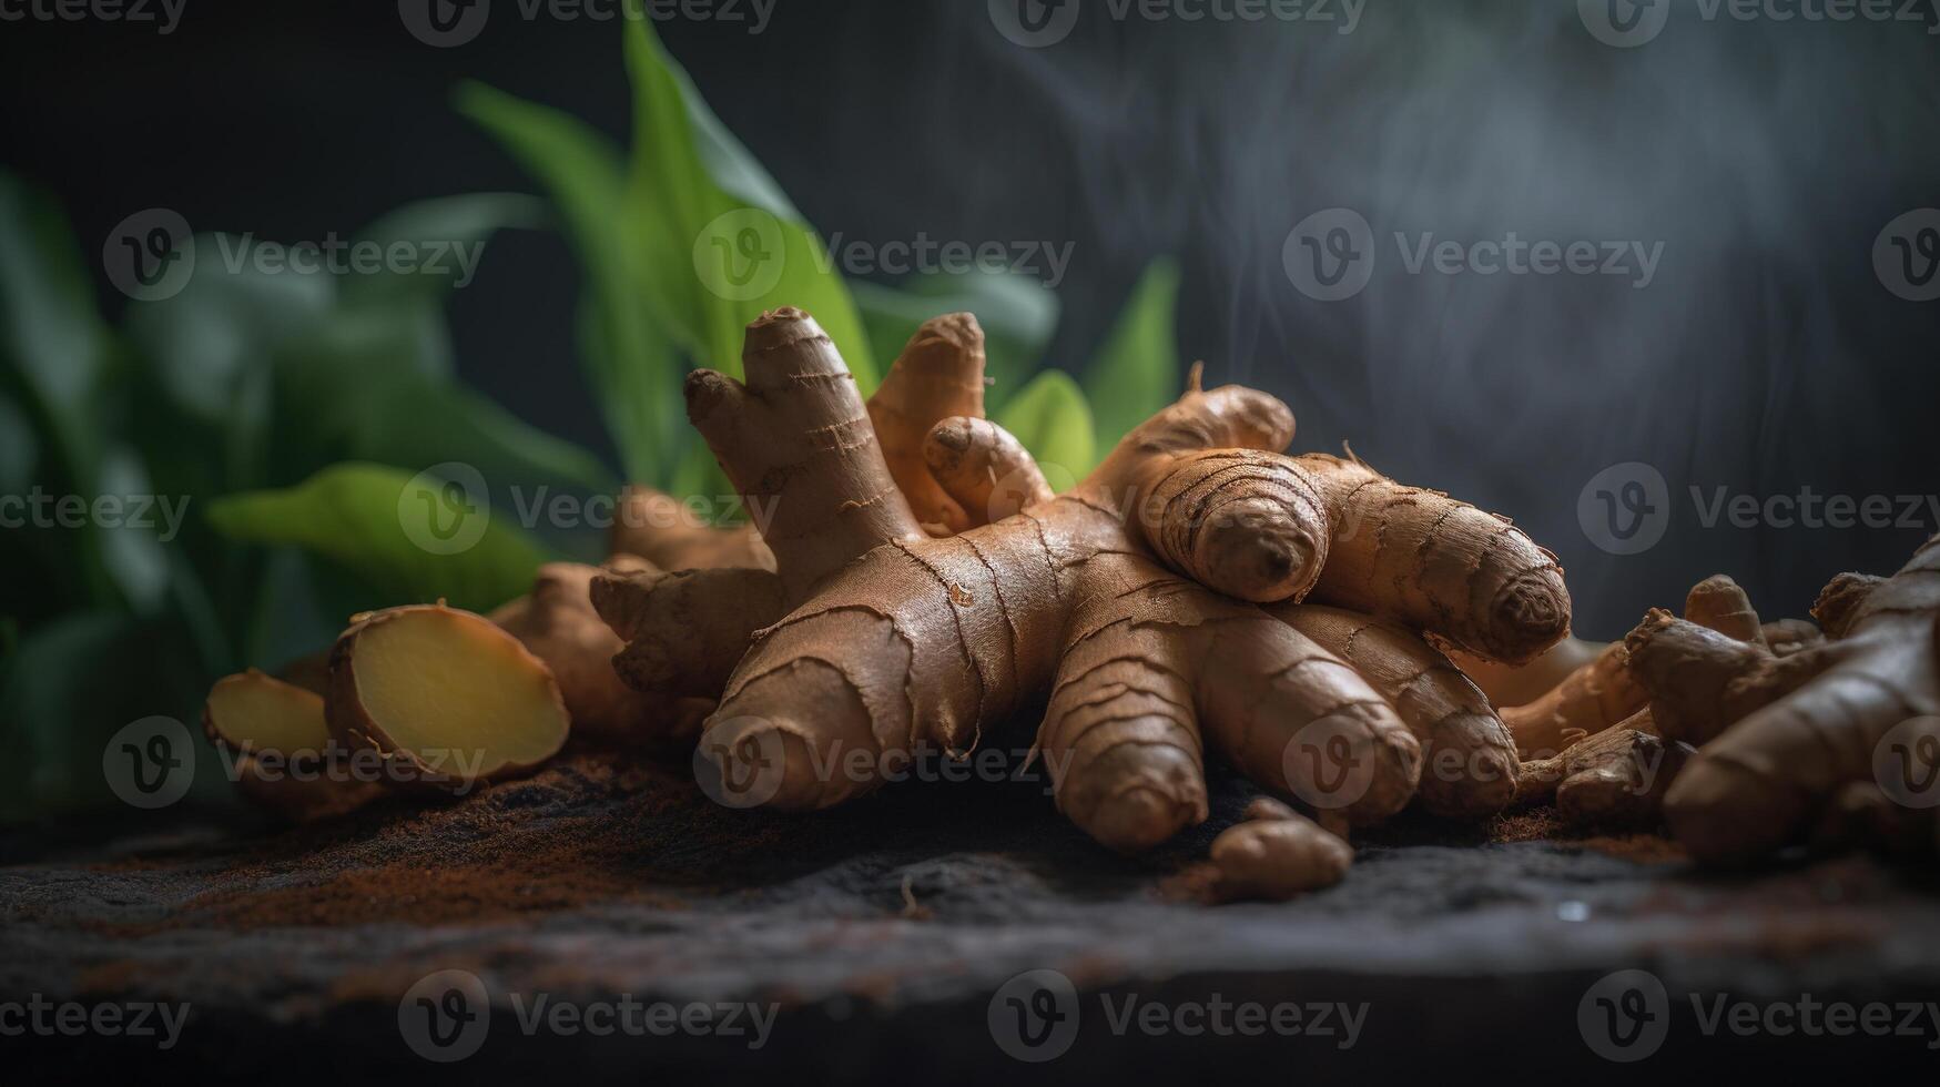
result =
[[225,675],[202,705],[202,728],[235,753],[237,788],[299,823],[343,815],[374,800],[382,786],[359,778],[332,743],[324,699],[254,668]]

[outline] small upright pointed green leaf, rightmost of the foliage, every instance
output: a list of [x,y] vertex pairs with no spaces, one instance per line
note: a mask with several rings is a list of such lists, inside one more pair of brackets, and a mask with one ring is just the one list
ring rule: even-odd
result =
[[1110,450],[1133,427],[1178,400],[1185,380],[1174,328],[1178,299],[1180,266],[1154,260],[1084,371],[1100,450]]

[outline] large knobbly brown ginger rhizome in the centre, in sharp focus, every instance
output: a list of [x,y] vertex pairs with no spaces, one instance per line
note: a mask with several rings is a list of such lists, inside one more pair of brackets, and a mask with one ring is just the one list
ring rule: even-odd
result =
[[[1013,437],[962,413],[982,386],[966,314],[912,340],[885,379],[912,390],[894,412],[871,415],[801,311],[753,322],[743,361],[745,384],[689,377],[689,419],[768,511],[774,571],[592,586],[629,683],[720,693],[700,753],[724,782],[824,807],[881,784],[883,753],[962,755],[1038,716],[1059,809],[1123,850],[1207,817],[1209,743],[1342,823],[1408,804],[1424,743],[1490,776],[1469,782],[1482,800],[1438,806],[1513,792],[1507,730],[1420,642],[1527,660],[1568,631],[1562,571],[1505,518],[1354,460],[1282,456],[1284,404],[1197,380],[1051,495]],[[883,429],[920,433],[922,458],[885,456]],[[1342,660],[1277,611],[1302,598],[1387,619],[1368,652],[1397,660]]]

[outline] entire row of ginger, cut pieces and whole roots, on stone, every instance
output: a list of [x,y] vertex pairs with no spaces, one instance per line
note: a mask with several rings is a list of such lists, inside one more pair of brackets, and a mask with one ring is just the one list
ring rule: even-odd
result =
[[1717,576],[1593,646],[1507,518],[1290,456],[1282,402],[1197,367],[1063,495],[984,417],[970,314],[923,324],[867,402],[795,309],[749,326],[743,373],[695,371],[687,410],[762,516],[630,487],[601,567],[545,565],[491,615],[357,615],[322,664],[219,681],[204,722],[242,790],[330,819],[530,773],[570,734],[813,811],[879,788],[889,755],[968,759],[1038,722],[1057,809],[1112,850],[1207,821],[1214,759],[1257,784],[1211,848],[1222,899],[1331,885],[1348,837],[1403,809],[1554,804],[1668,825],[1701,862],[1934,844],[1874,751],[1897,728],[1940,771],[1940,538],[1835,580],[1820,625],[1762,623]]

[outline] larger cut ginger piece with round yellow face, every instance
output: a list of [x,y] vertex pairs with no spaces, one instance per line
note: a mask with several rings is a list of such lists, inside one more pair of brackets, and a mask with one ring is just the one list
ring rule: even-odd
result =
[[440,604],[359,615],[330,650],[330,730],[452,792],[566,741],[553,672],[491,619]]

